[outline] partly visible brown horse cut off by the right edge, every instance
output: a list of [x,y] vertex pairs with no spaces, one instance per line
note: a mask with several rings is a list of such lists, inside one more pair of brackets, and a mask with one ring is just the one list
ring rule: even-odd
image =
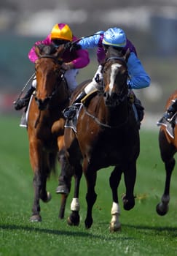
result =
[[[177,98],[177,90],[170,95],[165,109],[167,110],[172,103],[173,99]],[[177,151],[177,128],[176,121],[174,125],[174,138],[170,136],[168,127],[161,125],[159,132],[159,146],[162,161],[165,164],[166,178],[165,178],[165,189],[161,198],[161,202],[157,204],[157,214],[163,216],[168,212],[168,204],[170,202],[170,178],[175,167],[176,161],[174,154]]]

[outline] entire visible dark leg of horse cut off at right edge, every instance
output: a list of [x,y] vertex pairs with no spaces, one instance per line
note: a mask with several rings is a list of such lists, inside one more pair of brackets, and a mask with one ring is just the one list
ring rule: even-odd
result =
[[175,159],[173,158],[173,155],[176,152],[176,148],[172,144],[168,143],[164,132],[160,132],[159,143],[161,158],[165,163],[166,178],[165,189],[161,198],[161,202],[157,204],[156,211],[157,214],[163,216],[167,214],[168,204],[170,202],[170,179],[176,163]]

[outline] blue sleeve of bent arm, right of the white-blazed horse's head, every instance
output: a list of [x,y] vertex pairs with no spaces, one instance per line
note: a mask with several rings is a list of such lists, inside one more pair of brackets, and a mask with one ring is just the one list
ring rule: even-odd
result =
[[127,61],[128,75],[130,80],[127,81],[130,89],[141,89],[148,87],[151,83],[151,78],[143,69],[141,61],[135,56],[135,53],[130,53]]

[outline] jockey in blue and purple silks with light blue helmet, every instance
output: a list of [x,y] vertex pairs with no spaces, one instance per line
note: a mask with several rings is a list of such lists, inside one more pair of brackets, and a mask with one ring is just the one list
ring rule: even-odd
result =
[[106,50],[109,46],[117,48],[117,50],[122,50],[123,53],[126,50],[130,49],[130,57],[127,61],[127,68],[128,68],[128,75],[129,78],[127,80],[127,85],[130,89],[130,95],[133,94],[134,97],[134,108],[135,116],[138,121],[143,119],[143,107],[139,99],[135,97],[132,89],[142,89],[150,85],[150,78],[146,71],[143,69],[141,61],[138,59],[136,50],[132,42],[127,39],[125,32],[119,28],[111,28],[107,31],[99,31],[93,36],[82,38],[77,44],[71,46],[71,50],[75,49],[87,49],[87,48],[95,48],[97,49],[97,59],[98,59],[98,70],[95,72],[93,80],[89,83],[82,91],[76,100],[74,101],[73,105],[66,108],[64,110],[63,115],[70,119],[75,115],[76,108],[74,106],[75,103],[81,102],[81,100],[90,92],[94,91],[95,89],[99,89],[99,83],[101,82],[103,75],[102,75],[102,64],[106,59]]

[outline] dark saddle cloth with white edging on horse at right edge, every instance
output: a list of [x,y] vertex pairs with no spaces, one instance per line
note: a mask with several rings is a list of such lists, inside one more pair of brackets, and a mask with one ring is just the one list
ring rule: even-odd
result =
[[165,126],[166,131],[168,132],[168,135],[170,135],[171,138],[175,138],[175,134],[174,134],[174,128],[177,124],[177,113],[175,113],[172,118],[170,119],[170,121],[167,121],[165,119],[164,116],[162,116],[162,118],[160,118],[159,121],[157,121],[157,126]]

